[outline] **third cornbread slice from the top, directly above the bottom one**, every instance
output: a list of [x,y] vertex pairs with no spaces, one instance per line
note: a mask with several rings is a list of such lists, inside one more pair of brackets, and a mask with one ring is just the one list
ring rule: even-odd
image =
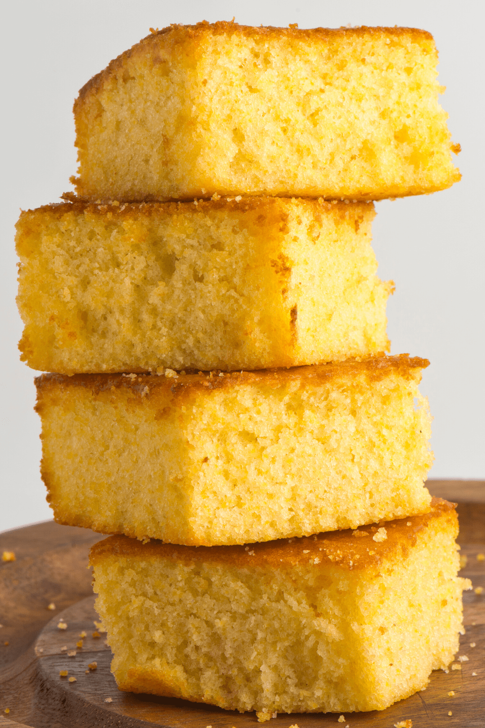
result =
[[423,513],[427,365],[41,376],[47,500],[58,523],[207,546]]

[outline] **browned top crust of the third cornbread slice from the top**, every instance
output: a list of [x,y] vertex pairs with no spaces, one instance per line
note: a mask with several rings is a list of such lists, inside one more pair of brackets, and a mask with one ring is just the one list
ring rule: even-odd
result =
[[[93,394],[112,391],[113,388],[126,388],[137,392],[148,400],[157,389],[170,390],[173,395],[182,395],[195,390],[229,389],[241,384],[262,384],[268,387],[279,387],[289,381],[300,380],[302,385],[330,381],[332,379],[348,379],[356,376],[367,376],[369,381],[380,381],[392,373],[398,373],[404,379],[420,376],[420,370],[429,365],[428,359],[409,357],[409,354],[386,356],[384,354],[366,357],[363,360],[348,359],[344,362],[313,364],[292,368],[260,369],[257,371],[233,371],[222,373],[211,372],[185,373],[178,376],[153,376],[153,374],[41,374],[35,383],[39,395],[44,390],[68,389],[83,387],[91,389]],[[167,370],[173,374],[172,370]]]

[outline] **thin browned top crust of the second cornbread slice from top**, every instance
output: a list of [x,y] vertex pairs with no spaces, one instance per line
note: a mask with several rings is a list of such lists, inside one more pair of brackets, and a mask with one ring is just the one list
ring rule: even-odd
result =
[[107,215],[108,213],[115,218],[133,218],[136,215],[145,217],[155,215],[175,215],[183,214],[208,214],[215,210],[223,210],[224,212],[249,213],[259,210],[262,207],[280,209],[287,213],[291,205],[302,204],[313,207],[315,213],[333,213],[334,215],[348,215],[350,210],[354,214],[373,213],[373,202],[326,202],[323,198],[313,199],[310,197],[219,197],[218,199],[196,199],[193,202],[84,202],[76,195],[65,193],[63,197],[66,202],[55,202],[51,205],[42,205],[34,210],[23,210],[20,213],[19,223],[33,215],[52,215],[60,220],[63,215],[74,213],[82,215],[84,213],[91,215]]

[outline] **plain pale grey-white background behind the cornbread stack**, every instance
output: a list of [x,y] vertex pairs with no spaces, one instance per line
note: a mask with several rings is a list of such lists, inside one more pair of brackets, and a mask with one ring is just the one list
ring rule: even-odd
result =
[[433,33],[441,103],[462,181],[432,196],[378,202],[374,249],[384,279],[392,353],[428,357],[421,391],[434,415],[433,478],[483,478],[484,5],[443,0],[44,0],[1,12],[1,493],[0,530],[51,517],[39,476],[34,372],[18,359],[14,224],[19,208],[57,202],[76,173],[79,88],[150,26],[199,20],[247,25],[408,25]]

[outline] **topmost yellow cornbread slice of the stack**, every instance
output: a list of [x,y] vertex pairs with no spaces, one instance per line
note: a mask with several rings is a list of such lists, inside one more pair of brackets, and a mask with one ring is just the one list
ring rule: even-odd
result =
[[437,52],[413,28],[171,25],[74,104],[79,196],[381,199],[460,179]]

